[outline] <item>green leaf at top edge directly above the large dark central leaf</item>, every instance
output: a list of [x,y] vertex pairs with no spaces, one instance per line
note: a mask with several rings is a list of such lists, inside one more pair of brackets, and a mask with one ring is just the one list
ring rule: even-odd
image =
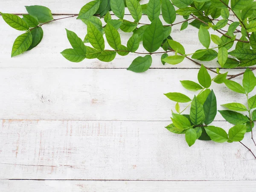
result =
[[149,0],[147,15],[148,19],[153,22],[156,18],[159,18],[161,12],[161,2],[160,0]]

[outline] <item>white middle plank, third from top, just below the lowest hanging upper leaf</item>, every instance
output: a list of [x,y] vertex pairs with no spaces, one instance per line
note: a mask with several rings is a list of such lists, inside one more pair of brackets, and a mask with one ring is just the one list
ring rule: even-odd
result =
[[[236,74],[244,70],[229,71]],[[195,93],[178,82],[197,81],[197,73],[195,69],[134,73],[125,69],[3,68],[0,119],[169,121],[175,102],[163,93],[181,92],[193,98]],[[218,109],[228,102],[247,105],[244,96],[224,84],[212,83],[211,88]],[[181,108],[186,106],[181,104]],[[218,113],[215,120],[224,119]]]

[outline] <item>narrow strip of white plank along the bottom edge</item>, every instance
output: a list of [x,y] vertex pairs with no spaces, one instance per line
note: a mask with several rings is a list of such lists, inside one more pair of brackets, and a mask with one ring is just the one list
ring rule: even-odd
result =
[[255,181],[0,180],[2,192],[254,192]]

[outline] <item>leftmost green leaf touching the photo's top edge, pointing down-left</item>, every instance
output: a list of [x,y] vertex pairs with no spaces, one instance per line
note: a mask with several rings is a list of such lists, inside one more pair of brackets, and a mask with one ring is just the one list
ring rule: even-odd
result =
[[77,19],[88,19],[93,16],[99,9],[99,4],[99,0],[90,1],[89,3],[85,4],[85,6],[81,8]]

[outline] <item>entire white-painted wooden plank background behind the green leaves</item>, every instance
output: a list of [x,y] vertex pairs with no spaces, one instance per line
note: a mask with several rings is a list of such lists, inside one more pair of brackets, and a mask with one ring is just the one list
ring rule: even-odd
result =
[[[21,15],[24,6],[43,5],[59,18],[78,14],[89,1],[0,0],[0,11]],[[147,16],[141,22],[149,23]],[[197,141],[189,148],[184,135],[164,128],[175,103],[163,93],[192,97],[179,81],[196,81],[197,65],[184,60],[163,66],[160,55],[154,55],[151,69],[138,74],[126,70],[135,54],[117,56],[110,63],[71,63],[59,54],[70,47],[64,28],[81,38],[86,34],[80,20],[58,20],[43,26],[38,47],[11,58],[12,43],[21,32],[0,18],[1,192],[256,190],[256,161],[242,145]],[[197,29],[179,28],[173,27],[172,37],[188,53],[202,48]],[[120,33],[126,44],[131,34]],[[204,64],[217,66],[216,60]],[[241,77],[236,80],[241,82]],[[212,88],[218,109],[245,100],[223,85]],[[225,129],[232,126],[219,114],[215,120],[214,125]],[[244,143],[256,152],[250,134]]]

